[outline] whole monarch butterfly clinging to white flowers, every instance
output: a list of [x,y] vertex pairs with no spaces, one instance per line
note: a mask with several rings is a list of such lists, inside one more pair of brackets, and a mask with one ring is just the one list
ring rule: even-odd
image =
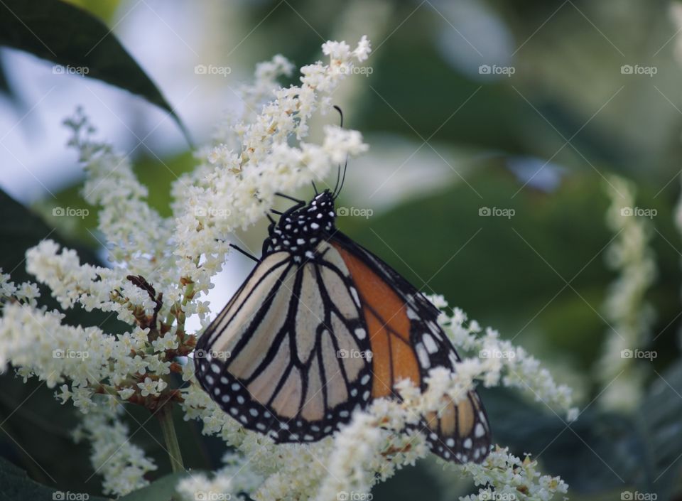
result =
[[[397,398],[399,379],[425,389],[431,368],[454,370],[460,360],[438,309],[336,229],[339,191],[337,178],[333,193],[315,189],[308,204],[281,195],[296,205],[270,217],[261,259],[197,343],[203,389],[276,443],[318,441],[354,409]],[[490,429],[475,390],[422,421],[438,456],[459,463],[487,456]]]

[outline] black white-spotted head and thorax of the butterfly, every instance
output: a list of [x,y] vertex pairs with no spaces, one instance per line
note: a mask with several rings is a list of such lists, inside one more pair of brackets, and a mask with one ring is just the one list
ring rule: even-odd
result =
[[295,262],[314,259],[315,249],[334,230],[334,196],[323,191],[308,205],[283,213],[270,225],[266,252],[290,252]]

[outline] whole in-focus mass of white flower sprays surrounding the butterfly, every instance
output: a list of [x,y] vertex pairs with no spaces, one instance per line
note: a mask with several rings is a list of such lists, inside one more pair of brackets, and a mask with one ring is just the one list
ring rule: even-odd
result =
[[[443,309],[440,324],[472,356],[454,374],[434,369],[426,392],[399,382],[400,401],[374,402],[318,443],[276,445],[247,431],[197,384],[191,353],[199,333],[188,332],[186,320],[207,321],[202,296],[227,257],[227,237],[264,217],[276,192],[323,182],[347,156],[367,149],[357,131],[338,126],[325,126],[318,142],[306,138],[309,119],[330,109],[332,92],[369,52],[364,37],[354,49],[344,42],[325,43],[328,61],[304,66],[301,84],[286,88],[277,79],[291,75],[291,63],[276,56],[259,65],[254,84],[242,90],[241,114],[228,117],[215,143],[198,154],[197,168],[173,184],[168,218],[149,207],[146,187],[128,158],[92,139],[93,128],[82,113],[67,121],[87,173],[83,196],[102,208],[99,233],[112,266],[84,264],[74,251],[45,240],[26,253],[26,269],[62,308],[109,312],[129,328],[114,334],[67,325],[62,313],[38,307],[35,284],[15,285],[0,274],[0,369],[11,364],[24,378],[59,387],[58,397],[82,411],[76,436],[92,443],[92,464],[104,476],[107,493],[121,495],[145,485],[144,475],[156,468],[129,442],[123,404],[164,414],[179,404],[185,419],[200,420],[203,433],[220,436],[237,451],[210,478],[185,478],[178,492],[189,499],[200,492],[247,492],[256,500],[328,500],[341,491],[368,492],[428,454],[414,426],[419,416],[438,411],[444,399],[457,400],[476,384],[521,388],[567,419],[577,414],[568,388],[555,384],[534,358],[494,330],[467,323],[461,311],[448,311],[438,297],[433,301]],[[174,386],[172,372],[182,375],[182,387]],[[561,480],[540,476],[535,463],[521,463],[503,449],[481,466],[460,469],[480,485],[485,480],[486,488],[515,488],[525,496],[519,499],[548,500],[565,492]]]

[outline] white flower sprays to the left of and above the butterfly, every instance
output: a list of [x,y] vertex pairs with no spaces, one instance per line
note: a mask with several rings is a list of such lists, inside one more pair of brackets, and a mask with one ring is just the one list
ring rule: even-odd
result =
[[[244,88],[243,116],[233,119],[197,169],[173,186],[172,217],[150,208],[148,190],[134,176],[129,158],[94,140],[94,127],[80,110],[66,121],[73,131],[70,145],[87,174],[82,195],[100,207],[98,229],[113,266],[81,263],[75,251],[47,239],[28,250],[26,269],[62,308],[78,304],[109,312],[131,329],[111,335],[67,325],[62,313],[38,308],[35,284],[16,285],[0,274],[0,370],[11,363],[24,378],[59,385],[60,399],[87,414],[81,434],[93,442],[93,465],[104,475],[107,493],[144,485],[152,465],[138,449],[123,446],[123,427],[112,437],[120,438],[117,447],[98,438],[105,422],[120,421],[114,411],[95,419],[99,401],[114,407],[140,404],[153,412],[180,401],[169,375],[183,370],[180,362],[195,346],[185,320],[206,318],[201,296],[229,250],[225,237],[262,217],[276,190],[321,179],[367,148],[357,131],[337,126],[325,128],[320,144],[289,141],[292,135],[303,139],[313,112],[330,107],[330,93],[352,74],[354,62],[367,59],[369,42],[363,38],[354,50],[330,42],[323,52],[329,63],[304,67],[300,86],[278,85],[277,78],[293,70],[282,56],[256,68],[254,85]],[[102,460],[108,455],[115,458]]]

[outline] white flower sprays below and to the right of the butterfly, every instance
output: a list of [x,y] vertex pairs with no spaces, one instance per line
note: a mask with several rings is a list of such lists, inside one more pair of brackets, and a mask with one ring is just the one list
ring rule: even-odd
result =
[[[426,437],[415,429],[421,416],[443,408],[445,397],[455,399],[475,387],[504,384],[532,394],[536,399],[565,414],[567,421],[578,415],[570,405],[570,389],[557,385],[537,360],[511,343],[500,340],[493,330],[485,333],[475,321],[467,323],[462,311],[447,313],[443,298],[433,298],[443,308],[439,322],[450,340],[463,352],[475,356],[463,359],[455,374],[442,367],[431,371],[428,389],[421,392],[409,380],[396,389],[401,401],[377,400],[366,411],[356,411],[350,424],[335,436],[314,444],[276,445],[271,438],[245,431],[200,389],[188,365],[185,379],[193,382],[183,389],[183,407],[187,419],[201,419],[204,433],[216,434],[242,453],[242,463],[263,480],[249,494],[255,500],[336,499],[340,492],[366,493],[377,482],[390,478],[406,465],[428,455]],[[509,357],[482,355],[488,352],[514,352]],[[411,426],[410,426],[411,425]],[[443,464],[452,464],[445,463]],[[566,492],[560,478],[541,475],[529,458],[521,461],[497,448],[482,465],[455,466],[470,475],[477,485],[487,485],[499,492],[514,490],[519,500],[550,500]],[[186,499],[200,490],[216,489],[216,495],[234,492],[224,482],[220,490],[215,480],[204,484],[183,483]]]

